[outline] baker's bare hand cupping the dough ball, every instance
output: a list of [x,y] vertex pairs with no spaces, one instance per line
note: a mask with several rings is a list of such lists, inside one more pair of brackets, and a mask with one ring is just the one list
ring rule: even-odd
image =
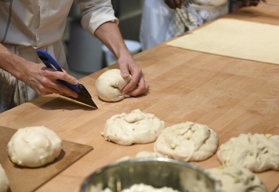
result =
[[[123,58],[119,57],[118,67],[121,71],[121,76],[123,79],[127,79],[129,77],[129,73],[132,75],[129,83],[122,89],[122,94],[136,96],[148,90],[149,85],[144,80],[144,74],[140,67],[137,66],[132,56],[125,56]],[[131,90],[136,85],[137,88]]]

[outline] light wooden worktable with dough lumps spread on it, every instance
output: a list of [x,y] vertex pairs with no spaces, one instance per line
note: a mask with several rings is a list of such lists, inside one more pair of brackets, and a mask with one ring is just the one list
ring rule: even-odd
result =
[[[279,25],[276,6],[243,8],[226,17]],[[253,31],[250,31],[253,33]],[[166,46],[164,43],[134,56],[150,90],[121,102],[98,99],[94,83],[115,65],[80,79],[98,110],[58,95],[39,97],[0,114],[0,125],[19,129],[44,125],[62,139],[91,145],[94,150],[54,177],[38,191],[78,191],[83,180],[97,168],[141,150],[153,143],[120,146],[100,135],[105,120],[134,109],[154,113],[167,126],[194,121],[214,129],[219,144],[241,133],[279,134],[279,66]],[[217,156],[192,162],[203,168],[219,166]],[[273,191],[279,171],[257,174]]]

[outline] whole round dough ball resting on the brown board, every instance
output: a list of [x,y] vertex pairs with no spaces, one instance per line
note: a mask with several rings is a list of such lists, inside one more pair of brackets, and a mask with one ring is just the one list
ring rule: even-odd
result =
[[62,140],[52,130],[40,127],[18,129],[8,143],[11,161],[24,167],[40,167],[56,159]]

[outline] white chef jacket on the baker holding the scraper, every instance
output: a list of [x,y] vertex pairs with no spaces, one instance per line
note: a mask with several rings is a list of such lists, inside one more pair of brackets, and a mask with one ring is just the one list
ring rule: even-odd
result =
[[[75,2],[81,5],[81,24],[92,36],[105,22],[118,24],[110,0]],[[0,42],[15,54],[34,63],[42,63],[36,50],[43,49],[67,70],[61,39],[72,3],[73,0],[0,0]],[[29,86],[26,88],[29,100],[36,97],[35,91]]]

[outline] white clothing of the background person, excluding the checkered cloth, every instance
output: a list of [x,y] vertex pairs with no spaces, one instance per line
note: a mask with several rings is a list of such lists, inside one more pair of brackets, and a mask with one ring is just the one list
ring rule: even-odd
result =
[[[228,0],[194,0],[189,14],[198,21],[197,26],[228,14]],[[145,0],[140,25],[142,49],[149,49],[169,39],[167,31],[175,21],[176,10],[163,0]]]

